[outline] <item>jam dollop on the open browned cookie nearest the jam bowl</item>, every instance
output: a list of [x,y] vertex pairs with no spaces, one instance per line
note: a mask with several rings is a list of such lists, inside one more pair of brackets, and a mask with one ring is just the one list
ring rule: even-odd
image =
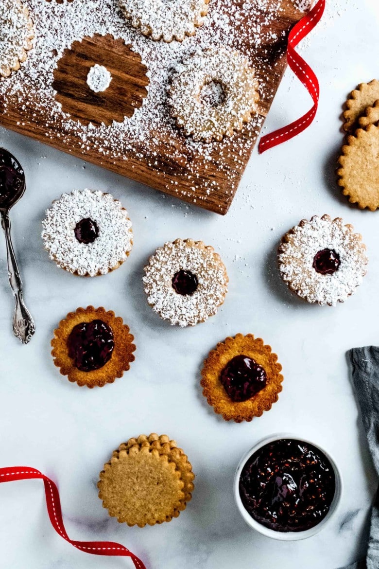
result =
[[232,401],[246,401],[261,391],[267,382],[266,372],[253,358],[235,356],[220,374],[220,382]]

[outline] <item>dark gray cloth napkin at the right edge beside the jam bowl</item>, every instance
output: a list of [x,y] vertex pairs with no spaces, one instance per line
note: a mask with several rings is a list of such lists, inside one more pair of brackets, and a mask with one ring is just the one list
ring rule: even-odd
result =
[[[348,352],[352,378],[368,446],[376,472],[379,475],[379,348],[366,346]],[[379,491],[372,514],[366,559],[341,569],[379,568]]]

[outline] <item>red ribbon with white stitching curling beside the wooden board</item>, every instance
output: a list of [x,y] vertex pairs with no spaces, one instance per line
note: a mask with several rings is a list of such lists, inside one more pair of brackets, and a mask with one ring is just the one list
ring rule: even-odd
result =
[[291,122],[290,125],[285,126],[281,129],[274,131],[273,133],[266,134],[261,138],[259,143],[259,152],[265,152],[266,150],[277,146],[282,142],[288,141],[290,138],[295,137],[297,134],[302,133],[316,116],[318,100],[320,96],[320,88],[318,79],[315,76],[312,69],[295,52],[295,47],[320,21],[325,9],[325,0],[318,0],[313,9],[306,14],[289,33],[288,36],[288,48],[287,48],[287,60],[290,68],[302,82],[305,88],[308,90],[310,96],[313,98],[313,107],[297,121]]

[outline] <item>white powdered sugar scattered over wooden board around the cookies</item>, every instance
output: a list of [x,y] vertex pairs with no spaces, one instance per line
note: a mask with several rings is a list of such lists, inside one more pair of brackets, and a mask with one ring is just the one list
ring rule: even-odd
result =
[[[13,105],[20,114],[20,124],[31,122],[30,106],[33,106],[33,121],[45,126],[45,135],[53,139],[58,133],[62,145],[67,149],[81,148],[85,156],[95,151],[106,156],[107,162],[128,160],[133,156],[145,162],[149,168],[164,177],[164,183],[170,193],[177,193],[188,201],[196,203],[206,197],[198,196],[197,188],[203,193],[219,190],[219,181],[208,176],[210,162],[216,156],[218,172],[228,180],[231,195],[238,185],[244,170],[246,156],[249,155],[254,138],[259,134],[264,117],[253,116],[247,127],[249,136],[234,136],[221,143],[196,143],[186,139],[174,126],[166,105],[166,86],[172,69],[191,52],[201,51],[206,47],[225,45],[249,50],[249,60],[257,70],[260,81],[261,102],[270,101],[276,90],[282,68],[276,70],[270,64],[268,46],[276,47],[279,53],[285,49],[282,36],[285,31],[274,33],[272,23],[278,19],[282,4],[290,5],[290,0],[253,0],[236,3],[234,0],[211,0],[205,24],[191,38],[183,42],[153,42],[134,30],[123,18],[115,0],[87,0],[58,4],[42,0],[27,0],[35,22],[36,47],[28,55],[26,63],[19,72],[9,79],[0,81],[0,106],[4,113],[7,106]],[[248,25],[247,25],[248,22]],[[148,95],[140,109],[136,109],[131,118],[111,126],[84,126],[63,113],[55,100],[52,88],[53,70],[57,67],[63,51],[75,40],[94,34],[112,34],[122,38],[132,49],[138,52],[148,67],[150,84]],[[250,51],[250,46],[253,51]],[[270,82],[267,72],[277,73],[275,85]],[[32,101],[31,101],[32,100]],[[164,137],[163,137],[164,134]],[[162,140],[165,139],[164,162],[161,158]],[[232,167],[227,160],[233,155]],[[186,178],[185,189],[180,187],[181,179],[167,180],[167,164],[180,167],[180,176]],[[178,187],[177,187],[178,186]]]

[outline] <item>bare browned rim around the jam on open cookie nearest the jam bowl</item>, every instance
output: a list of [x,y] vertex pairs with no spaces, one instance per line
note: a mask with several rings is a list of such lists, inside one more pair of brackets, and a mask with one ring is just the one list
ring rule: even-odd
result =
[[[228,397],[219,376],[227,363],[239,355],[251,357],[261,365],[266,372],[267,383],[264,389],[247,401],[234,402]],[[278,401],[282,390],[282,366],[277,360],[277,354],[273,353],[271,346],[265,345],[261,338],[255,338],[252,334],[229,336],[219,342],[204,361],[200,382],[203,395],[215,413],[222,415],[226,421],[233,419],[236,423],[241,423],[260,417]]]

